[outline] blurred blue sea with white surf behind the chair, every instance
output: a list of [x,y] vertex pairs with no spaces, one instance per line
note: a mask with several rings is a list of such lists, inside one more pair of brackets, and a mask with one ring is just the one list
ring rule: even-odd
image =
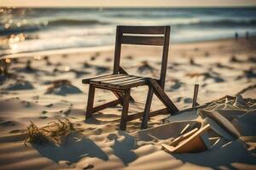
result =
[[256,8],[0,8],[0,54],[111,45],[117,25],[169,25],[172,43],[255,36]]

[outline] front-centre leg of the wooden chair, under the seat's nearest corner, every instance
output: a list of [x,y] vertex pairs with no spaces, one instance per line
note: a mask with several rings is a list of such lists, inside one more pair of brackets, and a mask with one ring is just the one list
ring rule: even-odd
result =
[[123,111],[122,111],[121,122],[120,122],[120,129],[121,130],[126,130],[126,122],[127,122],[129,101],[130,101],[130,93],[131,93],[131,89],[125,90],[125,95],[123,97]]

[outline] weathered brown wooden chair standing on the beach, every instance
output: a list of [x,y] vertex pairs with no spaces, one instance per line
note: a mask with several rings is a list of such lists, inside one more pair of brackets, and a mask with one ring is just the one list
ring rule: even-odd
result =
[[[154,35],[154,36],[150,36]],[[121,104],[123,111],[120,120],[120,129],[126,129],[126,122],[143,116],[142,128],[147,128],[148,118],[166,113],[177,113],[177,107],[172,100],[166,95],[166,66],[168,58],[170,38],[170,26],[117,26],[116,42],[114,50],[113,74],[103,75],[84,79],[82,82],[90,84],[87,100],[86,119],[92,116],[92,113],[101,111],[109,106]],[[120,65],[121,44],[153,45],[163,46],[162,62],[160,70],[160,79],[150,77],[137,77],[129,75]],[[129,101],[131,97],[131,88],[137,86],[148,86],[148,97],[143,112],[128,115]],[[108,89],[117,96],[118,99],[108,102],[104,105],[94,107],[95,88]],[[150,106],[153,94],[160,99],[166,108],[150,112]]]

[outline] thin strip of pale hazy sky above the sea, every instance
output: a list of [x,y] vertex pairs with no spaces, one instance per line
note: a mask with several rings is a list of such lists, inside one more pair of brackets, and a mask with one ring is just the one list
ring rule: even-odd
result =
[[0,0],[0,7],[252,7],[256,0]]

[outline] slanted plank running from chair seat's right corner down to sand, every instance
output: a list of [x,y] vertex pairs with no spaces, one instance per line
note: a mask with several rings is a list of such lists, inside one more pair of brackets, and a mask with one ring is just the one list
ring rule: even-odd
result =
[[169,97],[166,95],[163,88],[161,88],[154,79],[149,78],[148,82],[154,88],[154,94],[156,94],[156,96],[163,102],[163,104],[166,105],[166,107],[172,112],[173,115],[176,115],[178,109],[172,103],[172,100],[169,99]]

